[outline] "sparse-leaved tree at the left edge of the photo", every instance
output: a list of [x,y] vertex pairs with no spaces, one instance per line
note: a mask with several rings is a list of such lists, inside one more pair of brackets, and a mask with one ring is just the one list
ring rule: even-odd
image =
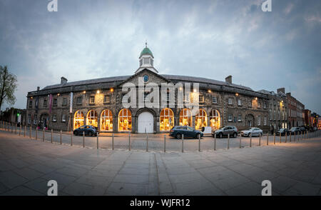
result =
[[14,104],[16,102],[17,80],[16,75],[8,71],[7,66],[0,66],[0,109],[4,102]]

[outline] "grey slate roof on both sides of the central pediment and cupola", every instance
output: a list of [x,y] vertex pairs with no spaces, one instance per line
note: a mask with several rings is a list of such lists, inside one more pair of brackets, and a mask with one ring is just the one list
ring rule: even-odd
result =
[[[198,83],[205,83],[205,84],[233,86],[236,88],[253,91],[253,89],[250,89],[247,86],[242,86],[242,85],[238,85],[238,84],[228,84],[225,81],[218,81],[215,79],[206,79],[206,78],[202,78],[202,77],[171,75],[171,74],[160,74],[160,75],[165,77],[165,79],[168,79],[168,80],[190,81],[190,82],[198,82]],[[112,77],[104,77],[104,78],[99,78],[99,79],[86,79],[86,80],[81,80],[81,81],[71,81],[71,82],[67,82],[66,84],[63,84],[63,85],[54,84],[54,85],[46,86],[42,90],[56,89],[56,88],[67,87],[67,86],[80,86],[80,85],[86,85],[86,84],[97,84],[97,83],[108,83],[108,82],[114,82],[114,81],[124,81],[124,80],[128,79],[130,76],[112,76]]]

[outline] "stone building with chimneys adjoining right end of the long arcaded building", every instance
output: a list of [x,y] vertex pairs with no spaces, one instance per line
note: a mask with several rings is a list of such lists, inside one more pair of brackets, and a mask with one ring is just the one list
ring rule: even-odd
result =
[[285,94],[285,88],[277,89],[277,93],[274,91],[261,90],[263,94],[267,94],[269,98],[269,124],[270,131],[277,131],[279,129],[289,128],[289,119],[287,117],[287,96]]

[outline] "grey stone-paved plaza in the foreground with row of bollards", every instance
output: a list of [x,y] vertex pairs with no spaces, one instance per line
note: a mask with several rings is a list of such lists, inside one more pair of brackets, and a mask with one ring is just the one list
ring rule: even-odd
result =
[[[95,149],[96,137],[86,138],[92,148],[41,137],[0,131],[1,195],[46,195],[52,179],[58,195],[260,195],[265,179],[272,182],[272,195],[321,195],[320,137],[281,144],[271,139],[268,146],[255,141],[241,149],[234,139],[230,149],[200,152],[198,140],[188,139],[195,151],[184,153],[180,146],[165,153],[128,151],[125,143],[124,149]],[[213,138],[208,141],[213,146]]]

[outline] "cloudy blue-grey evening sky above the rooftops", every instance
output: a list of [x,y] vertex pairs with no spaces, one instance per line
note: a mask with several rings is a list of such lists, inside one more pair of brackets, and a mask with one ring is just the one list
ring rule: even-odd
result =
[[[132,75],[147,40],[160,74],[200,76],[286,92],[321,114],[321,1],[0,0],[0,65],[28,91]],[[1,109],[11,105],[4,104]]]

